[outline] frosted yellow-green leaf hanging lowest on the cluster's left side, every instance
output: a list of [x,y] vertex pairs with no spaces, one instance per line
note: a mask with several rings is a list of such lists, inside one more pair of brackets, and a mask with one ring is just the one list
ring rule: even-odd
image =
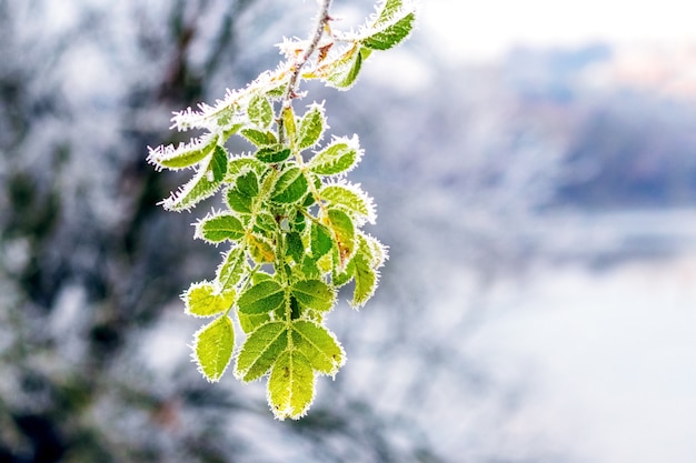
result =
[[195,334],[193,359],[201,374],[210,382],[220,380],[232,358],[235,331],[232,321],[222,315]]

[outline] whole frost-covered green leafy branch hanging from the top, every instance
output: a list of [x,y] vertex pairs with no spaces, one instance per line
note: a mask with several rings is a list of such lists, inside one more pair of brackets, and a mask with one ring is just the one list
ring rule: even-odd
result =
[[[195,236],[230,249],[212,281],[182,294],[186,313],[216,316],[196,333],[193,359],[207,380],[219,381],[235,358],[236,320],[245,339],[235,375],[243,382],[268,375],[269,405],[280,420],[302,416],[316,376],[334,376],[346,361],[325,325],[338,288],[354,281],[350,304],[365,305],[387,258],[361,230],[376,219],[371,199],[345,180],[362,157],[358,137],[334,137],[317,149],[328,129],[325,108],[312,103],[297,117],[297,87],[320,80],[350,88],[372,51],[400,43],[415,21],[411,2],[386,0],[357,33],[339,34],[328,27],[330,2],[321,3],[314,39],[286,41],[286,62],[276,71],[229,91],[216,107],[175,113],[178,130],[205,135],[150,149],[148,157],[158,169],[195,170],[162,202],[168,210],[189,210],[222,189],[223,209],[196,223]],[[228,152],[235,134],[256,151]]]

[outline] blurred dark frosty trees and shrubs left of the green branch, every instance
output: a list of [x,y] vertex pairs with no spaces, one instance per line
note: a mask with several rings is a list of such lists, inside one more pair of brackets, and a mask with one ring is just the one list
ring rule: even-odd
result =
[[217,258],[155,207],[172,185],[145,147],[221,76],[256,73],[267,57],[239,37],[278,21],[264,0],[0,0],[0,460],[438,461],[350,397],[280,425],[186,359],[151,366],[163,311]]

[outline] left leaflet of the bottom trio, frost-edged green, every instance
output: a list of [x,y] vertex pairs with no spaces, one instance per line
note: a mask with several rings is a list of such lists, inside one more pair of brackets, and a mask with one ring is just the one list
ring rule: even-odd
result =
[[270,370],[287,345],[288,331],[284,322],[270,322],[257,328],[239,351],[235,375],[247,382],[258,380]]

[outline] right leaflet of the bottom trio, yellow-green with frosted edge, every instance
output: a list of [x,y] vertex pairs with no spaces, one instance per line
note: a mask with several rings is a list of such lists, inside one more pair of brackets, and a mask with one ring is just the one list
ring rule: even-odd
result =
[[336,336],[316,323],[295,321],[292,344],[309,360],[311,366],[321,373],[335,375],[346,363],[346,353]]

